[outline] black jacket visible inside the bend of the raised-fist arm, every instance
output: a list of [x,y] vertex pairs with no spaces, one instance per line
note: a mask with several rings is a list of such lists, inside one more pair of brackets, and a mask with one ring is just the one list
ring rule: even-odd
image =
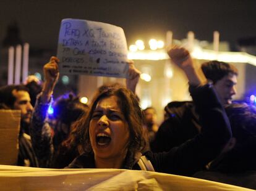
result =
[[160,125],[150,145],[153,152],[168,152],[194,138],[201,129],[194,102],[170,102],[164,110],[166,120]]

